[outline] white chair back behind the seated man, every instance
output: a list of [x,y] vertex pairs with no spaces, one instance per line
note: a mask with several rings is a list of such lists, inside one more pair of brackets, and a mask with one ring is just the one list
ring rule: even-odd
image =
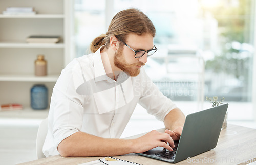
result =
[[37,136],[36,136],[37,159],[45,158],[44,153],[42,153],[42,146],[45,143],[47,131],[48,131],[48,118],[42,120],[37,131]]

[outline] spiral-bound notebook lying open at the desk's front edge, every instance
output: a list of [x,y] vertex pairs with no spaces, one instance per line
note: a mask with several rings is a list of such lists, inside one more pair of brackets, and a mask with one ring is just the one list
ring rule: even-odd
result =
[[91,161],[88,163],[82,163],[79,165],[102,165],[102,164],[107,164],[107,165],[128,165],[128,164],[137,164],[137,165],[142,165],[142,164],[138,164],[135,162],[131,162],[131,161],[127,161],[127,160],[122,160],[122,159],[118,159],[118,158],[114,158],[114,157],[105,157],[102,159],[98,159],[95,161]]

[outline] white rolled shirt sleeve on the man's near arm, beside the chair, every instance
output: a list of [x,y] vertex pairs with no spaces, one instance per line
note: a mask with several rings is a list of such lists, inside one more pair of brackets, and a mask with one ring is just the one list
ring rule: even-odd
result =
[[81,130],[84,98],[76,92],[79,81],[79,73],[68,67],[62,70],[53,88],[49,119],[56,148],[63,139]]

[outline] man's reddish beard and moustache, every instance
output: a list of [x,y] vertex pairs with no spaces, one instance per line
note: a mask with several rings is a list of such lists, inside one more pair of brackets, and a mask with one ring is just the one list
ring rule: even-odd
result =
[[138,76],[140,73],[140,68],[136,66],[144,66],[145,63],[143,62],[138,62],[134,64],[129,64],[125,61],[124,55],[123,55],[123,47],[119,48],[117,52],[115,52],[114,56],[114,64],[116,67],[121,69],[123,72],[129,73],[130,76]]

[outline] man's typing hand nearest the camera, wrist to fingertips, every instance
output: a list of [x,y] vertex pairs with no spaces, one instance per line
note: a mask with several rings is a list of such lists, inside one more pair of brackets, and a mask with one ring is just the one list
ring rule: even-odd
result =
[[136,147],[135,152],[141,153],[151,150],[155,147],[164,147],[170,151],[173,151],[174,140],[169,133],[160,133],[156,130],[148,132],[144,136],[141,136],[135,140],[134,146]]

